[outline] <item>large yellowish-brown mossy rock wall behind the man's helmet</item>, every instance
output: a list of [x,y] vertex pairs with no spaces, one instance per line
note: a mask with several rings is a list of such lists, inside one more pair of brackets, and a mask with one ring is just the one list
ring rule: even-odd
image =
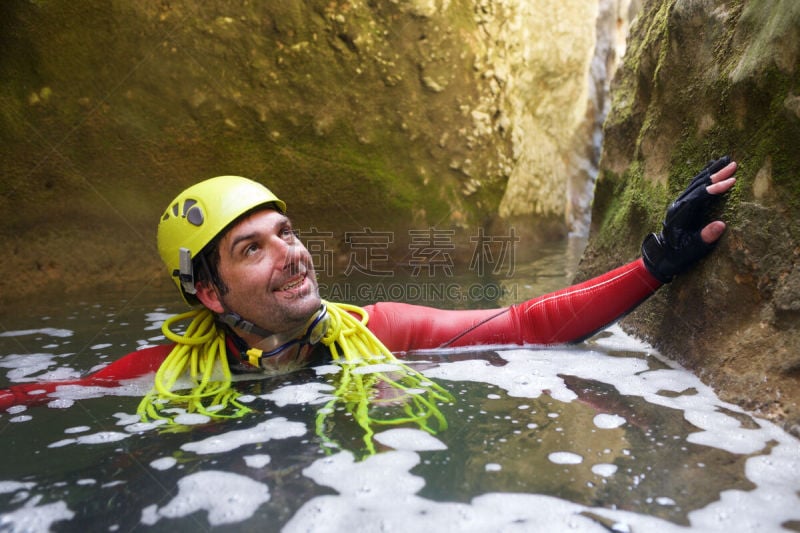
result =
[[[597,2],[0,11],[5,298],[162,279],[161,210],[220,174],[267,183],[300,228],[394,232],[400,256],[410,225],[467,232],[522,217],[544,238],[586,209],[569,191],[591,186],[597,160],[589,67],[614,53],[594,54]],[[617,11],[604,12],[613,42]]]

